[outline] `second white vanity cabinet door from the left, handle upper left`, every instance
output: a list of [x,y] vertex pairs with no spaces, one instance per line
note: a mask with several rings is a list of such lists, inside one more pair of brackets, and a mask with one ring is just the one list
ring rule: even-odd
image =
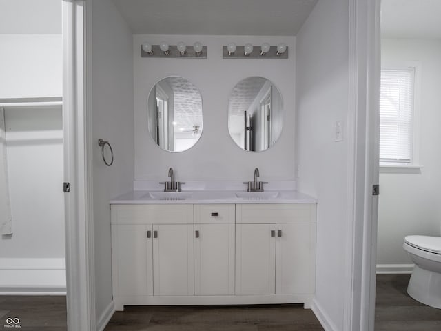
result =
[[193,295],[193,225],[153,225],[153,294]]

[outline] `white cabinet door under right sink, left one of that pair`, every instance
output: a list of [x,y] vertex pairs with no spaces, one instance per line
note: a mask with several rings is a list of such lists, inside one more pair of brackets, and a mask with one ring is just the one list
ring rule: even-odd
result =
[[274,294],[275,224],[236,224],[236,294]]

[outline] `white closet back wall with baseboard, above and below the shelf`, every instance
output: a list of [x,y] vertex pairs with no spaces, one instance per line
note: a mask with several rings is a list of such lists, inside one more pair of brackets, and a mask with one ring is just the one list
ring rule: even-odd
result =
[[[61,97],[61,46],[61,34],[0,34],[0,99]],[[14,233],[0,239],[0,288],[65,287],[61,107],[5,119]]]

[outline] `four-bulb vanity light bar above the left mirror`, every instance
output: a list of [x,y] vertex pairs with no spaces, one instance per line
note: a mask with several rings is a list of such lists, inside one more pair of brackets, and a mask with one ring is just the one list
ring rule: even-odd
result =
[[185,45],[185,43],[170,46],[165,42],[161,42],[160,45],[143,43],[141,45],[141,57],[207,59],[207,46],[203,46],[199,42],[190,46]]

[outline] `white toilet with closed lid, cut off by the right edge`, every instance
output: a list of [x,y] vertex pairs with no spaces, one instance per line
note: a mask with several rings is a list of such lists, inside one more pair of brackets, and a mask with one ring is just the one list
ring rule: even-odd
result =
[[441,237],[407,236],[403,248],[415,263],[407,293],[441,309]]

